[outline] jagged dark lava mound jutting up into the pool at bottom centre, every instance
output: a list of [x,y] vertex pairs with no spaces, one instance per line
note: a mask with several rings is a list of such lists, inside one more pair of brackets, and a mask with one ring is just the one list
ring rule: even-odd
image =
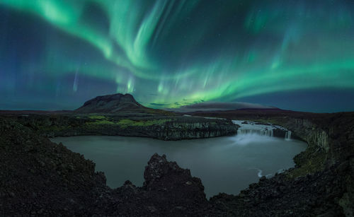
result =
[[[100,201],[105,215],[122,216],[207,216],[215,213],[205,198],[200,179],[190,170],[154,154],[144,171],[145,182],[135,187],[126,181],[115,189],[112,200]],[[119,202],[115,201],[118,200]]]

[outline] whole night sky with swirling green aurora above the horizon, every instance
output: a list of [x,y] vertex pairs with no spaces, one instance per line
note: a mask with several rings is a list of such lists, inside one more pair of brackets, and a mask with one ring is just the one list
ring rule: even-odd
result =
[[354,110],[353,1],[1,0],[0,109]]

